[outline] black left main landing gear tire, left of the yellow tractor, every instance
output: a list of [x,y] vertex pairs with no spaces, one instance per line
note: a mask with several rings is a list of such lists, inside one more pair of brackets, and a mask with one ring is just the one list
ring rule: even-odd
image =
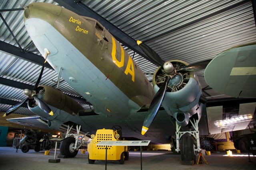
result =
[[74,147],[76,139],[74,137],[67,137],[60,143],[60,154],[65,155],[66,158],[74,158],[78,150],[72,149]]

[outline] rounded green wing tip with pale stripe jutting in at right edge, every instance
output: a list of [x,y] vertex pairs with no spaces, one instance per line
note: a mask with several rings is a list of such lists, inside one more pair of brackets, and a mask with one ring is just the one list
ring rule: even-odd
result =
[[256,97],[256,44],[233,47],[208,64],[206,83],[217,92],[236,98]]

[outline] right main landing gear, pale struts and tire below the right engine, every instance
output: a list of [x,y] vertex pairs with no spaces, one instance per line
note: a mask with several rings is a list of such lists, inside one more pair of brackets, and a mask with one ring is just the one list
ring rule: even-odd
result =
[[[182,164],[196,163],[196,153],[201,151],[199,130],[198,130],[198,120],[193,119],[190,123],[194,127],[195,131],[183,131],[180,132],[180,126],[176,122],[176,152],[180,151]],[[184,135],[185,133],[190,133],[190,136]],[[184,136],[183,136],[184,135]],[[182,137],[183,136],[183,137]],[[194,137],[194,138],[193,138]],[[194,145],[194,139],[196,139],[196,147]]]

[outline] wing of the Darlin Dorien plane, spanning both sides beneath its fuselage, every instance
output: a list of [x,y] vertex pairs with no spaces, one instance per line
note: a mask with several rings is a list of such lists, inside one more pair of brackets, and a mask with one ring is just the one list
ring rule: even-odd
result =
[[[208,135],[246,129],[248,125],[256,123],[256,99],[218,99],[208,100],[203,108],[202,116],[198,124],[200,135]],[[147,114],[147,107],[143,107],[138,112],[130,114],[126,118],[110,117],[96,114],[93,110],[79,113],[80,119],[90,127],[82,129],[95,134],[97,129],[112,129],[114,125],[122,127],[123,137],[126,139],[137,138],[141,140],[151,140],[153,143],[170,142],[170,136],[175,135],[176,124],[164,109],[160,109],[156,119],[152,123],[152,128],[141,135],[141,128]],[[28,127],[39,127],[50,129],[47,121],[40,116],[22,117],[7,119],[13,123]],[[187,131],[186,127],[181,129]],[[62,125],[60,131],[66,132],[66,125]]]

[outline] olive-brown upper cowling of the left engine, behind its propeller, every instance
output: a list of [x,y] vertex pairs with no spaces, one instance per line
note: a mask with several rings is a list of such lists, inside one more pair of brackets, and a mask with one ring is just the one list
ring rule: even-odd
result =
[[[44,100],[46,104],[63,110],[72,115],[76,115],[78,111],[84,109],[80,104],[78,104],[78,102],[76,102],[66,94],[62,93],[60,90],[57,90],[50,86],[38,86],[38,88],[36,88],[36,92],[37,97]],[[28,102],[28,105],[28,107],[31,108],[37,106],[33,100],[30,100]]]

